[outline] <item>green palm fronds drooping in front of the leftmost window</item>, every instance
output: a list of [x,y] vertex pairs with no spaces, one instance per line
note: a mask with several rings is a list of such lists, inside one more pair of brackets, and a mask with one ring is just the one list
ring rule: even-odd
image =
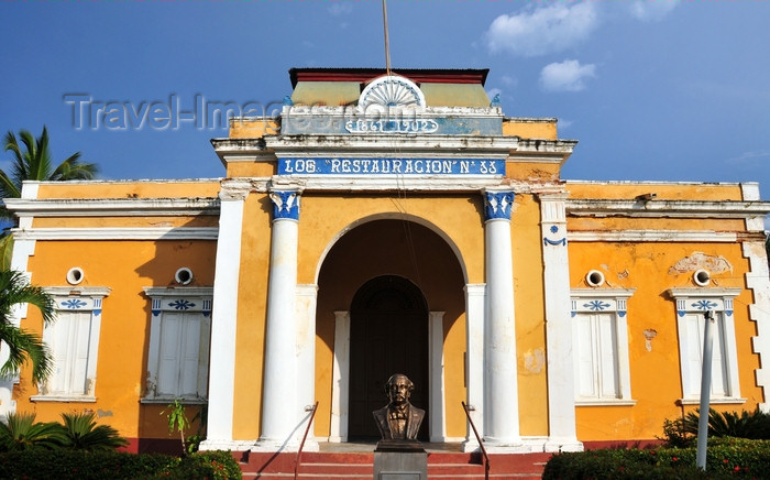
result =
[[43,288],[31,285],[26,276],[14,270],[0,270],[0,340],[8,349],[6,363],[0,367],[0,377],[16,374],[29,359],[32,362],[32,381],[45,380],[54,366],[53,357],[41,338],[15,325],[12,320],[14,306],[30,304],[36,306],[43,315],[43,323],[54,320],[54,301]]

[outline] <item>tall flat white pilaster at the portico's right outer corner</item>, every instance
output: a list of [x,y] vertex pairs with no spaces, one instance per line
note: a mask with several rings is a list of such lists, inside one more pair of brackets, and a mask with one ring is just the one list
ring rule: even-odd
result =
[[548,440],[546,451],[580,451],[570,324],[570,263],[564,193],[540,194],[540,231],[546,295]]

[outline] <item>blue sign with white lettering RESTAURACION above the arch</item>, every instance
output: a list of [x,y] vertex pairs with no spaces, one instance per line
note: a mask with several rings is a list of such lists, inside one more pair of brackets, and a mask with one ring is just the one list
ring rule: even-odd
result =
[[279,159],[278,175],[503,175],[504,160]]

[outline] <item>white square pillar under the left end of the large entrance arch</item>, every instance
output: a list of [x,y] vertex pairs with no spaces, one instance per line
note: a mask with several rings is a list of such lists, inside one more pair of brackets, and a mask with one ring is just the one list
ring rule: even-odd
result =
[[[300,424],[299,435],[304,435],[310,419],[310,411],[316,403],[316,284],[297,285],[297,412]],[[301,439],[301,437],[300,437]],[[317,451],[318,441],[308,430],[305,451]]]

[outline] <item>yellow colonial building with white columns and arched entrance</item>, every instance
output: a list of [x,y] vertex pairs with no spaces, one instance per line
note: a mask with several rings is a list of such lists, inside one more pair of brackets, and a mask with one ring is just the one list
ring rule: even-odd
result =
[[[148,450],[174,399],[202,448],[377,436],[395,372],[420,437],[492,451],[662,435],[711,403],[768,411],[757,184],[576,182],[553,118],[506,117],[486,70],[301,68],[280,114],[233,119],[216,179],[26,183],[13,266],[56,301],[55,373],[0,408],[90,410]],[[213,155],[212,155],[213,157]],[[765,366],[765,368],[762,367]]]

